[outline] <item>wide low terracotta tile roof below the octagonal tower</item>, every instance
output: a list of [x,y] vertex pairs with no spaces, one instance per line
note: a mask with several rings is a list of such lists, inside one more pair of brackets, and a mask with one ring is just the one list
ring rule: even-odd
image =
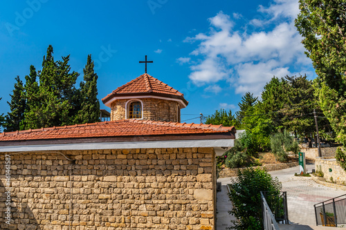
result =
[[[1,142],[24,140],[59,140],[89,137],[136,137],[160,135],[212,135],[234,134],[235,128],[210,124],[186,124],[175,122],[154,122],[137,119],[124,119],[113,122],[76,124],[51,128],[39,128],[26,131],[0,133]],[[234,137],[234,135],[231,135]],[[228,137],[228,138],[233,138]],[[182,137],[183,140],[184,137]]]

